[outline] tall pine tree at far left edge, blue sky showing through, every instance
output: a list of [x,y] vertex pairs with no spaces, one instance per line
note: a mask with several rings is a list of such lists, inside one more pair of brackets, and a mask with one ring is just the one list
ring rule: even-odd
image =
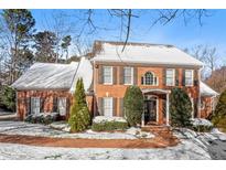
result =
[[[0,13],[0,38],[3,39],[4,49],[9,52],[9,84],[13,83],[23,72],[24,65],[31,64],[31,41],[34,33],[35,20],[26,9],[7,9]],[[28,52],[30,53],[28,55]],[[21,61],[25,62],[21,65]]]

